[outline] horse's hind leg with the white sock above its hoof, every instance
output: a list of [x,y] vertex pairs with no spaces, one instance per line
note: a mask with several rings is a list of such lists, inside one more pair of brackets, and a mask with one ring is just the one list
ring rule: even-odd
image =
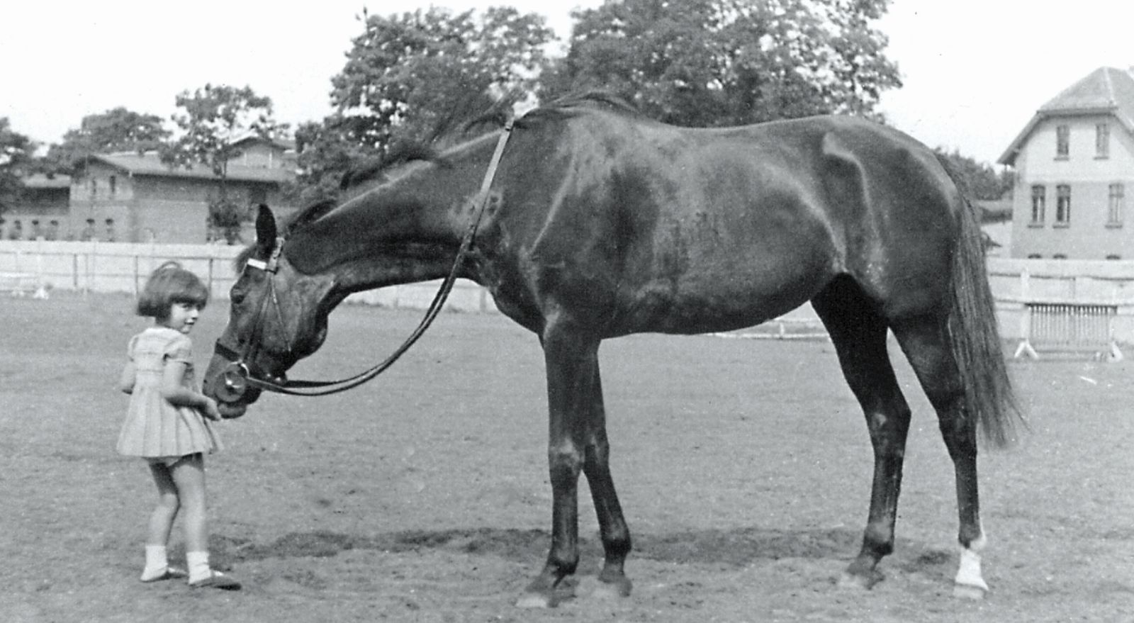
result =
[[981,598],[989,590],[981,576],[980,550],[987,539],[981,528],[976,479],[976,419],[966,413],[965,387],[949,347],[943,319],[920,317],[894,323],[894,335],[909,360],[930,404],[937,411],[945,446],[957,481],[960,566],[954,584],[958,597]]

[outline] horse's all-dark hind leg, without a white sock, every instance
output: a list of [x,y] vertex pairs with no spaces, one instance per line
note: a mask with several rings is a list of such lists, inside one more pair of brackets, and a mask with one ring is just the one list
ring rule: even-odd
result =
[[886,320],[862,289],[848,279],[838,280],[812,304],[831,336],[847,385],[862,405],[874,448],[870,515],[862,550],[840,581],[845,586],[870,588],[882,579],[878,562],[894,552],[909,405],[886,351]]

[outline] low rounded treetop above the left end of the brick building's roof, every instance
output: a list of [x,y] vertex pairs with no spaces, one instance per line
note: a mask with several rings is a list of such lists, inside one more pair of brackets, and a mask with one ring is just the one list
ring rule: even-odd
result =
[[71,174],[75,163],[92,153],[156,150],[170,136],[161,117],[118,107],[83,117],[78,129],[70,129],[61,143],[48,149],[46,162],[52,170]]

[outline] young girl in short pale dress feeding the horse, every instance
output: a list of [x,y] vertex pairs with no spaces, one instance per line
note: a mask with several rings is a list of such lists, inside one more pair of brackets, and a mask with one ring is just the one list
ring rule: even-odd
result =
[[[119,388],[130,395],[130,404],[118,452],[145,458],[158,486],[142,581],[188,575],[194,588],[236,590],[239,582],[209,566],[204,455],[221,447],[210,424],[220,413],[217,402],[196,389],[187,337],[208,301],[201,279],[177,262],[166,262],[146,281],[137,313],[153,318],[154,326],[129,343]],[[166,557],[174,519],[183,508],[188,573],[170,566]]]

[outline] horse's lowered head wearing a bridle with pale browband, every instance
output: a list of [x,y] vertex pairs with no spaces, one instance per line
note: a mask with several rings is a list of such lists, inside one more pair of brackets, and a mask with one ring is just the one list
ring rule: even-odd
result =
[[228,326],[203,379],[204,394],[226,418],[243,415],[260,397],[256,381],[282,385],[287,370],[322,345],[333,306],[333,279],[295,270],[266,205],[256,217],[256,241],[229,292]]

